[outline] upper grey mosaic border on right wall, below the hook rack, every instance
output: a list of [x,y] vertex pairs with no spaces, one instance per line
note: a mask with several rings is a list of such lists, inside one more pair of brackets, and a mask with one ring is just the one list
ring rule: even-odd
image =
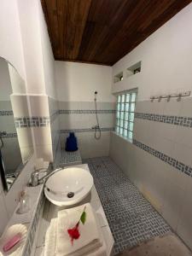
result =
[[160,123],[166,123],[170,125],[180,125],[184,127],[192,128],[192,117],[174,116],[156,113],[135,113],[137,119],[147,119],[149,121],[155,121]]

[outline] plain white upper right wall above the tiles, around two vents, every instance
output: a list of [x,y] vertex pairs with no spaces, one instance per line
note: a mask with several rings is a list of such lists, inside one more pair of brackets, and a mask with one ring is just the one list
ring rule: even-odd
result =
[[192,3],[113,66],[113,75],[142,61],[142,72],[113,84],[112,91],[138,87],[138,99],[192,90]]

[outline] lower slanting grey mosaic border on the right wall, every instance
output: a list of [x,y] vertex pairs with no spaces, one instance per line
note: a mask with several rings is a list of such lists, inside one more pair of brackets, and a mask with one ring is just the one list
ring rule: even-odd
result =
[[190,177],[192,177],[192,167],[183,164],[182,162],[168,156],[167,154],[161,153],[160,151],[151,148],[143,143],[138,142],[136,139],[133,139],[133,144],[136,145],[138,148],[142,148],[144,151],[148,152],[148,154],[152,154],[155,157],[159,158],[160,160],[166,162],[170,166],[175,167],[178,171],[183,172]]

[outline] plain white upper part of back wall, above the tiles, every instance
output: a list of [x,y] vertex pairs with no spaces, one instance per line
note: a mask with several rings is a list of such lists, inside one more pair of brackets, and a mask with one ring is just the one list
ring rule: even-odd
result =
[[94,64],[55,61],[55,81],[58,101],[114,102],[111,95],[112,68]]

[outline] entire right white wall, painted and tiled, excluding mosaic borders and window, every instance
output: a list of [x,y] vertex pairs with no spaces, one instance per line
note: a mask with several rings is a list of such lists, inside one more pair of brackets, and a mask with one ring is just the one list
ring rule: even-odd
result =
[[[149,98],[192,90],[192,3],[118,61],[113,66],[113,75],[122,71],[125,75],[126,68],[138,61],[142,61],[141,73],[112,84],[112,91],[137,87],[137,113],[191,117],[192,97],[179,102],[176,98],[170,102],[151,102]],[[191,127],[136,118],[133,137],[192,168]],[[115,133],[111,134],[110,156],[192,248],[192,177],[177,164],[168,164]]]

